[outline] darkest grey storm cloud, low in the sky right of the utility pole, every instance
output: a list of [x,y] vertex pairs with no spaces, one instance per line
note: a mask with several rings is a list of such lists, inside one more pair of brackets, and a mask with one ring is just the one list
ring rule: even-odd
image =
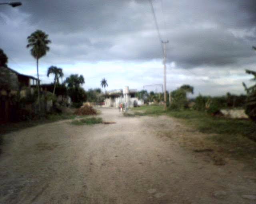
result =
[[169,59],[187,66],[226,65],[241,58],[252,57],[251,42],[238,39],[229,31],[214,29],[190,29],[172,35]]

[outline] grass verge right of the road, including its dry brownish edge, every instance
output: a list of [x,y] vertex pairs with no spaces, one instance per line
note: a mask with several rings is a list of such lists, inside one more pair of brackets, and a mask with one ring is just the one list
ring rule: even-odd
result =
[[194,131],[209,134],[202,138],[197,138],[197,135],[195,135],[196,138],[184,137],[186,145],[194,148],[206,146],[206,148],[213,148],[214,151],[218,149],[220,155],[228,154],[237,159],[246,159],[248,163],[256,166],[255,159],[252,159],[256,158],[256,124],[251,120],[214,117],[196,110],[164,111],[163,106],[141,106],[132,110],[134,115],[139,111],[144,115],[166,114],[179,118],[180,122]]

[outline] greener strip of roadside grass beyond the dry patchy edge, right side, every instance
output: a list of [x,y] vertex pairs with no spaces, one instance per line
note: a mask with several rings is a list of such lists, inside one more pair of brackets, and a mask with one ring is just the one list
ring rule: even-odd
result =
[[174,118],[185,119],[186,124],[202,133],[242,135],[256,141],[256,124],[251,120],[213,117],[206,112],[196,110],[164,111],[163,106],[141,106],[132,108],[134,115],[159,116],[166,114]]

